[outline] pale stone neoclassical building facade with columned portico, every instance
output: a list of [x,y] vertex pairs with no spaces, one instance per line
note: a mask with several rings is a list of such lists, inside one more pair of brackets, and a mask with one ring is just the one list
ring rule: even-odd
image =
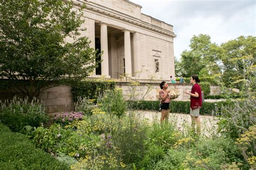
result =
[[[174,75],[173,26],[141,13],[129,0],[76,0],[86,4],[84,24],[91,47],[103,51],[92,77],[120,74],[139,80],[169,80]],[[100,60],[100,59],[97,59]],[[139,72],[142,71],[142,74]]]

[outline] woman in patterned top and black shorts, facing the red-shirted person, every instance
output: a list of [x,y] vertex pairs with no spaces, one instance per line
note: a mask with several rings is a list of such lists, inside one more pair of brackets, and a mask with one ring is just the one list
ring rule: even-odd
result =
[[161,100],[161,119],[160,122],[163,123],[165,120],[166,123],[168,123],[168,118],[169,118],[169,104],[171,100],[171,96],[169,95],[170,90],[167,90],[168,84],[163,81],[159,84],[161,90],[159,91],[159,96]]

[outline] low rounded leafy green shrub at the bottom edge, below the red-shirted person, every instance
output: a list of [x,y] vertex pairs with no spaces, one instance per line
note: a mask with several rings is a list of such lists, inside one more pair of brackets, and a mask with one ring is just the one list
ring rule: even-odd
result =
[[187,154],[183,167],[221,169],[221,165],[232,162],[242,165],[242,155],[231,138],[220,137],[199,140],[196,150],[193,149]]

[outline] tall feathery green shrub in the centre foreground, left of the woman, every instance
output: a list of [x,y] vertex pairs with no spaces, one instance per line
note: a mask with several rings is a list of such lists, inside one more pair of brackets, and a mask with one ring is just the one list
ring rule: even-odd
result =
[[110,134],[114,148],[112,153],[116,158],[123,160],[125,164],[132,164],[143,157],[145,150],[143,141],[147,137],[148,126],[134,112],[128,111],[128,114],[121,118],[110,114],[92,115],[91,118],[92,122],[100,122],[99,125],[94,124],[94,127],[97,129],[101,127],[102,134],[105,136]]

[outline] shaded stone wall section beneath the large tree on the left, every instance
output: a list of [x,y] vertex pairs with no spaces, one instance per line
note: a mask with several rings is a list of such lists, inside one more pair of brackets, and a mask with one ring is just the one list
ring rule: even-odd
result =
[[[0,90],[0,100],[11,100],[14,96],[21,97],[15,90]],[[58,86],[44,90],[39,96],[43,100],[48,113],[72,111],[74,109],[71,87]]]

